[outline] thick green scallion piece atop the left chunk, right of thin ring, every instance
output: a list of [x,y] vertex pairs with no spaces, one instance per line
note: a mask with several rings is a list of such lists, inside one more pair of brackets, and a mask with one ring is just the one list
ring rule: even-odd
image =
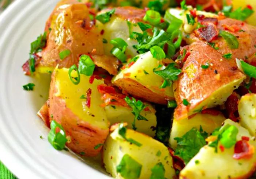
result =
[[93,60],[88,55],[82,55],[79,59],[79,74],[84,74],[86,76],[93,75],[95,69],[95,64]]

